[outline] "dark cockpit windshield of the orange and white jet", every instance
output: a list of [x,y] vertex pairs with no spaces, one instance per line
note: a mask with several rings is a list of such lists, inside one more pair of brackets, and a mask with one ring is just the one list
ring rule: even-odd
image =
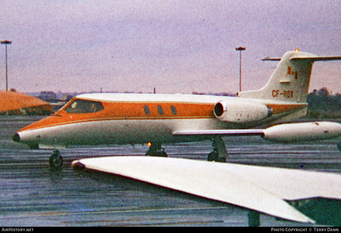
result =
[[103,110],[104,107],[101,102],[91,100],[75,99],[65,112],[67,113],[94,113]]

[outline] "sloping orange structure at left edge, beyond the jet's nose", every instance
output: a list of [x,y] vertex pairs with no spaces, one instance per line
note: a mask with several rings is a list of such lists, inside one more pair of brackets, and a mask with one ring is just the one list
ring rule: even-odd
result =
[[[20,111],[24,110],[24,111]],[[0,113],[49,115],[53,113],[53,107],[33,96],[15,91],[0,91]]]

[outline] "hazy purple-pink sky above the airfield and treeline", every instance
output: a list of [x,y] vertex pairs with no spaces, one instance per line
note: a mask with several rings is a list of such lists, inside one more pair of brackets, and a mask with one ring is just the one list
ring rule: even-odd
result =
[[[0,40],[9,88],[21,92],[237,92],[261,88],[299,48],[341,55],[341,1],[7,0]],[[0,89],[5,89],[0,47]],[[2,77],[2,78],[1,78]],[[310,91],[341,93],[341,61],[316,62]],[[2,80],[2,81],[1,81]]]

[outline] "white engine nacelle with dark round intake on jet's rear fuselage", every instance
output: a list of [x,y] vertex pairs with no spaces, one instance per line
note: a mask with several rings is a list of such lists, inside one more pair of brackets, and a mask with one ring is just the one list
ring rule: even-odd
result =
[[214,116],[221,121],[247,123],[263,120],[272,115],[272,109],[265,104],[247,101],[226,103],[219,101],[214,105]]

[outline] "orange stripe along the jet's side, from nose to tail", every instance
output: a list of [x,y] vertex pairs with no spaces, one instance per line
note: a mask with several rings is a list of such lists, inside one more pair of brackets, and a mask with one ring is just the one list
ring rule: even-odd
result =
[[[52,126],[61,126],[65,124],[81,123],[88,121],[101,120],[163,120],[163,119],[203,119],[215,118],[213,114],[214,104],[204,103],[134,103],[134,102],[102,102],[104,109],[94,113],[74,113],[68,114],[63,109],[58,111],[54,116],[49,116],[40,121],[30,124],[18,132],[25,130],[33,130]],[[147,115],[144,111],[144,105],[149,107],[150,114]],[[158,105],[162,106],[163,114],[158,112]],[[170,106],[176,108],[177,114],[174,115]],[[273,109],[273,113],[282,113],[284,111],[291,111],[303,106],[305,104],[297,105],[283,105],[283,104],[268,104],[267,106]]]

